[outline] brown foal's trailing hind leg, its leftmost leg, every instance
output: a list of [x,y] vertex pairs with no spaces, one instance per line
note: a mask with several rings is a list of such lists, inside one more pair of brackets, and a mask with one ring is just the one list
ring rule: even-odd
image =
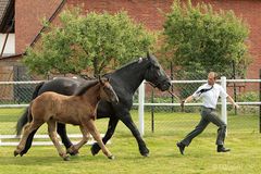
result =
[[27,123],[24,127],[23,136],[20,140],[18,146],[14,150],[14,156],[21,154],[21,157],[24,154],[22,151],[25,148],[26,140],[30,133],[33,133],[35,129],[39,128],[45,122],[38,122],[36,123],[34,120],[30,123]]

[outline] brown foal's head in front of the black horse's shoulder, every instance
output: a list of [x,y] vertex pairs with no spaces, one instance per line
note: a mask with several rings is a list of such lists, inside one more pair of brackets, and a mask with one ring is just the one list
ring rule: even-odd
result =
[[100,78],[99,76],[100,87],[100,97],[101,99],[109,101],[109,102],[119,102],[119,98],[116,92],[113,90],[111,84],[109,83],[108,78]]

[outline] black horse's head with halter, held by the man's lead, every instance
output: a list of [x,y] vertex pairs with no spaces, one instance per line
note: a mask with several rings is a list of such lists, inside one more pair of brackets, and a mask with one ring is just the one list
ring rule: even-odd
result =
[[148,53],[147,59],[150,61],[150,64],[145,74],[145,79],[162,91],[167,90],[171,86],[170,77],[165,74],[154,55]]

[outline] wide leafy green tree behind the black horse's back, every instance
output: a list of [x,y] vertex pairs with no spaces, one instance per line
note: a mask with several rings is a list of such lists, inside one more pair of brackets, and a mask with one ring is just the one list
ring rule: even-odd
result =
[[24,63],[32,72],[79,74],[86,70],[97,75],[144,55],[156,40],[126,12],[83,15],[77,8],[61,13],[60,23],[46,23],[41,42],[27,49]]

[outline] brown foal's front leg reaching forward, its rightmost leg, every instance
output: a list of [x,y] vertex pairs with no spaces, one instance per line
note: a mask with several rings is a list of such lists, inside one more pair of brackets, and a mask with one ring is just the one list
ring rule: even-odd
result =
[[103,144],[101,137],[100,137],[100,133],[98,132],[98,129],[96,128],[95,125],[95,121],[94,120],[89,120],[86,123],[86,126],[88,128],[88,130],[90,132],[90,134],[92,135],[92,137],[95,138],[95,140],[98,142],[98,145],[100,146],[102,152],[109,158],[109,159],[114,159],[114,156],[107,149],[105,145]]

